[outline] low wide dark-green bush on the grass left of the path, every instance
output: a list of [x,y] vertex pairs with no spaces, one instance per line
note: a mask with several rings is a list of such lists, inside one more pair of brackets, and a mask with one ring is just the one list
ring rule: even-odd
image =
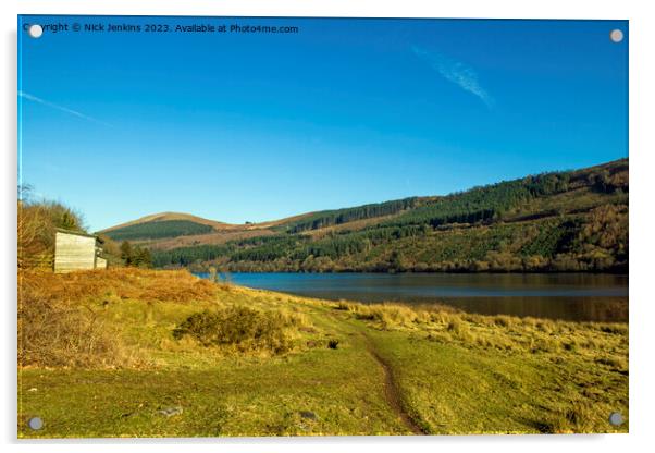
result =
[[281,354],[292,348],[289,328],[299,323],[294,315],[236,306],[194,314],[173,330],[173,336],[189,335],[205,346]]

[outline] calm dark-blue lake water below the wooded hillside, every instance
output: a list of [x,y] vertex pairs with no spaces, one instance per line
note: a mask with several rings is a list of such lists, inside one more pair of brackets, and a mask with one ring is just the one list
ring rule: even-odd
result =
[[628,321],[628,276],[232,273],[230,279],[244,286],[333,301],[443,303],[484,315]]

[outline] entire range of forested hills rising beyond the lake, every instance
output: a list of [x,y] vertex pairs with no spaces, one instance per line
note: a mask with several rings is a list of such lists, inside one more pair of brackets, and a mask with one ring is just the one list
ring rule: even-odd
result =
[[103,233],[197,270],[625,271],[628,192],[621,159],[258,224],[162,213]]

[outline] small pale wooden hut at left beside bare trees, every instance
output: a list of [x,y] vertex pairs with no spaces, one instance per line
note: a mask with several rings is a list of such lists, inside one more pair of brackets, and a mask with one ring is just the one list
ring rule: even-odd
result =
[[58,229],[54,235],[54,272],[104,269],[102,240],[92,234]]

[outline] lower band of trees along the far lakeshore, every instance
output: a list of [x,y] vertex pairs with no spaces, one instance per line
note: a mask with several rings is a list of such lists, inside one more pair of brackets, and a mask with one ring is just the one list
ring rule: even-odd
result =
[[531,222],[371,228],[311,236],[268,236],[220,246],[156,250],[157,267],[210,265],[231,271],[580,271],[628,264],[628,211],[590,212]]

